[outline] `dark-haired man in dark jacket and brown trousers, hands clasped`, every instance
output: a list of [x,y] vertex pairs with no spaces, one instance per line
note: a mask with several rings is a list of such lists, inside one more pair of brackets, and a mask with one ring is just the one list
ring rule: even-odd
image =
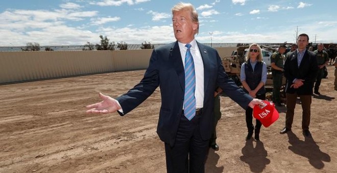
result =
[[306,50],[306,45],[309,43],[308,35],[299,35],[297,41],[297,50],[288,54],[288,57],[284,62],[284,76],[287,79],[285,86],[286,114],[285,127],[280,133],[284,134],[292,130],[296,100],[297,97],[300,97],[303,111],[303,135],[311,137],[309,131],[311,95],[318,66],[316,54]]

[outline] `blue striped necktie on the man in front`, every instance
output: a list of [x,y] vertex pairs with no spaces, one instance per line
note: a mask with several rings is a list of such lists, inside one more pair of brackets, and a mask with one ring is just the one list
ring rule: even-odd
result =
[[196,116],[196,72],[194,68],[194,61],[190,52],[190,44],[187,47],[185,55],[185,96],[184,96],[184,116],[191,120]]

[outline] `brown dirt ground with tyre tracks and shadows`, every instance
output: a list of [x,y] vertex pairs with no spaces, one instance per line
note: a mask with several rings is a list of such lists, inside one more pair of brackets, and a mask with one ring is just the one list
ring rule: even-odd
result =
[[[220,150],[209,150],[206,172],[337,172],[333,71],[328,66],[322,95],[312,97],[312,139],[302,135],[298,102],[293,133],[278,133],[285,121],[285,107],[278,107],[280,118],[262,127],[261,141],[246,141],[244,110],[221,97]],[[117,97],[144,72],[0,85],[0,172],[165,172],[156,134],[159,89],[124,117],[85,113],[84,106],[100,101],[98,92]]]

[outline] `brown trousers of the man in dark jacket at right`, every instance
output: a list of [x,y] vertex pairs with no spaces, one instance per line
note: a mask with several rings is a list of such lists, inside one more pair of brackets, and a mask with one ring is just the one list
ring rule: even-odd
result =
[[[309,130],[311,95],[301,95],[298,97],[300,97],[302,104],[302,130]],[[297,101],[296,93],[295,94],[286,93],[285,127],[288,129],[292,128],[296,101]]]

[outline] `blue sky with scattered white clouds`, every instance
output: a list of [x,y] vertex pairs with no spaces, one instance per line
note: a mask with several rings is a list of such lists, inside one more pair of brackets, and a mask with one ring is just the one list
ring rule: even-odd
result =
[[[110,41],[175,41],[174,0],[12,0],[0,4],[0,46],[83,45]],[[213,0],[191,2],[199,13],[201,43],[337,42],[337,1]],[[210,34],[212,33],[212,34]]]

